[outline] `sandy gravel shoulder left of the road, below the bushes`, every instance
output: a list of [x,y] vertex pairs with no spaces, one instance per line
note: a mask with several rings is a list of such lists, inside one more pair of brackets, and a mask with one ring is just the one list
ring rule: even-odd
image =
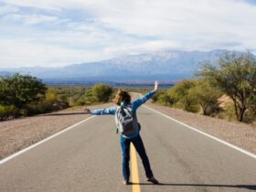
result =
[[[90,106],[90,109],[106,108],[112,105],[114,104],[95,105]],[[0,159],[90,116],[80,108],[0,122]]]

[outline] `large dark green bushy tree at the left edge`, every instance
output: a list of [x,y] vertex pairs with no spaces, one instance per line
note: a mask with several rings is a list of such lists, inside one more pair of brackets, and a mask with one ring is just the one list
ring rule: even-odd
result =
[[15,74],[0,80],[0,120],[27,115],[48,107],[47,87],[29,75]]

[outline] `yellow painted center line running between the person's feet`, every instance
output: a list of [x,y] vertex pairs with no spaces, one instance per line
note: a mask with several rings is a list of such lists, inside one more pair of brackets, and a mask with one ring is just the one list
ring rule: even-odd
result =
[[131,144],[131,160],[132,160],[132,182],[135,184],[133,185],[133,192],[141,192],[141,187],[139,185],[140,180],[139,180],[136,150],[133,144]]

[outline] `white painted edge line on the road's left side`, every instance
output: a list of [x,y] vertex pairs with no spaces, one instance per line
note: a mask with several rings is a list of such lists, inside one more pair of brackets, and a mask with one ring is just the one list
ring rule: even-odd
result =
[[36,146],[39,145],[39,144],[43,144],[43,143],[47,142],[48,140],[50,140],[50,139],[52,139],[52,138],[58,136],[58,135],[61,134],[61,133],[68,132],[70,129],[76,127],[76,126],[79,125],[80,123],[84,123],[84,122],[86,122],[86,121],[88,121],[88,120],[91,120],[91,118],[93,118],[93,117],[95,117],[95,115],[93,115],[93,116],[91,116],[91,117],[89,117],[89,118],[87,118],[87,119],[85,119],[85,120],[82,120],[82,121],[79,122],[79,123],[75,123],[75,124],[73,124],[73,125],[67,127],[66,129],[64,129],[64,130],[62,130],[62,131],[60,131],[60,132],[58,132],[58,133],[55,133],[55,134],[52,134],[52,135],[48,136],[47,138],[41,140],[40,142],[37,142],[36,144],[32,144],[32,145],[28,146],[27,148],[22,149],[21,151],[18,151],[18,152],[16,152],[15,154],[6,157],[5,159],[2,159],[2,160],[0,161],[0,165],[2,165],[2,164],[4,164],[5,162],[7,162],[7,161],[9,161],[9,160],[11,160],[11,159],[13,159],[13,158],[15,158],[15,157],[18,156],[18,155],[22,155],[23,153],[25,153],[25,152],[27,152],[28,150],[30,150],[30,149],[36,147]]

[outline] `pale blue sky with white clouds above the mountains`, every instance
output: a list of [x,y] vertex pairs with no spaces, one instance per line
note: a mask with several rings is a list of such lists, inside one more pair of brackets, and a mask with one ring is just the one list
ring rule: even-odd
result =
[[256,0],[0,1],[0,68],[165,49],[256,52]]

